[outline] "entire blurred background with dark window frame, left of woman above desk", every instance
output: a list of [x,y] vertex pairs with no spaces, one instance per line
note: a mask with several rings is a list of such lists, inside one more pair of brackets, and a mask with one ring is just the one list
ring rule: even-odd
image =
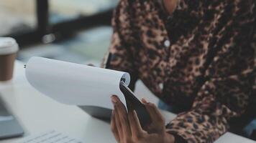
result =
[[1,0],[0,36],[17,40],[17,59],[31,56],[99,66],[109,48],[118,0]]

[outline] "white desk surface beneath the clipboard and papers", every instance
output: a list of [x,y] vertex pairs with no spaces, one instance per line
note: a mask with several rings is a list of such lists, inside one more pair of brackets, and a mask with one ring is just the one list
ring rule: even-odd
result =
[[[94,119],[76,106],[60,104],[33,89],[24,77],[23,64],[16,61],[14,79],[0,82],[0,96],[8,109],[22,124],[24,137],[55,129],[69,134],[86,143],[113,143],[110,126],[106,122]],[[164,112],[167,119],[174,114]],[[1,140],[1,143],[19,142],[16,139]],[[254,141],[239,137],[232,133],[224,134],[216,143],[252,143]]]

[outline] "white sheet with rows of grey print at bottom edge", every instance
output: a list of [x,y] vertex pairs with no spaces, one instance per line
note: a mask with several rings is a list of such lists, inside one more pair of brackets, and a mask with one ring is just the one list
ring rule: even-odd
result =
[[[18,143],[18,142],[17,142]],[[41,134],[35,134],[29,137],[26,137],[19,143],[83,143],[78,139],[69,137],[66,134],[56,132],[52,130],[50,132],[44,132]]]

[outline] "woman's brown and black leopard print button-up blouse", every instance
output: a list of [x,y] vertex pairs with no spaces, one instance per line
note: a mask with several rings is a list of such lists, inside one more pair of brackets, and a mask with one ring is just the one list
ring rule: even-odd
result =
[[214,142],[255,97],[255,0],[121,0],[114,11],[110,68],[127,71],[180,109],[170,134]]

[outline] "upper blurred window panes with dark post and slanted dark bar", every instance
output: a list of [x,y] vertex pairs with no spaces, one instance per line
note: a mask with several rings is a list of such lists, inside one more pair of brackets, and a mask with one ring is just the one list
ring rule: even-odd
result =
[[[1,0],[0,36],[22,48],[70,38],[96,26],[109,26],[118,0]],[[2,28],[3,27],[3,28]]]

